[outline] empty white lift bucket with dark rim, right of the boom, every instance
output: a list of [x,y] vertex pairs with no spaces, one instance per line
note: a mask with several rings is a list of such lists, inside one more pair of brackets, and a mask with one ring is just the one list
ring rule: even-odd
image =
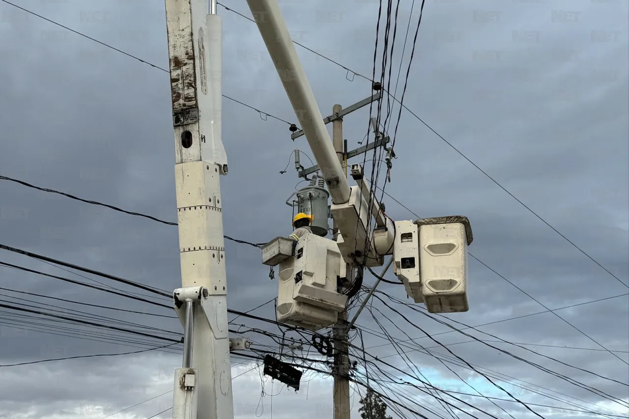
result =
[[396,221],[394,272],[406,293],[430,313],[460,313],[467,301],[467,247],[472,228],[465,216]]

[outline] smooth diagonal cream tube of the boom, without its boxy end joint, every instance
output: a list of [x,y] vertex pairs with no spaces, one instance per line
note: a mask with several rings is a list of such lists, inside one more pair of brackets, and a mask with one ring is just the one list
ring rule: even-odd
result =
[[334,151],[330,134],[323,123],[321,111],[292,44],[277,0],[247,0],[247,3],[306,140],[323,172],[332,202],[347,203],[350,198],[350,186]]

